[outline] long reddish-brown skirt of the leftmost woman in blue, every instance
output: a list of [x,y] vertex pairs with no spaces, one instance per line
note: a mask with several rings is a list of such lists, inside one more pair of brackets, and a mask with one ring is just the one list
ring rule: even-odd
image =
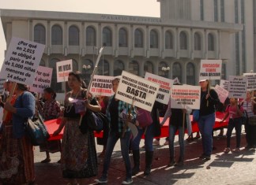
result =
[[13,126],[6,124],[0,144],[0,182],[31,183],[35,180],[33,146],[27,136],[13,138]]

